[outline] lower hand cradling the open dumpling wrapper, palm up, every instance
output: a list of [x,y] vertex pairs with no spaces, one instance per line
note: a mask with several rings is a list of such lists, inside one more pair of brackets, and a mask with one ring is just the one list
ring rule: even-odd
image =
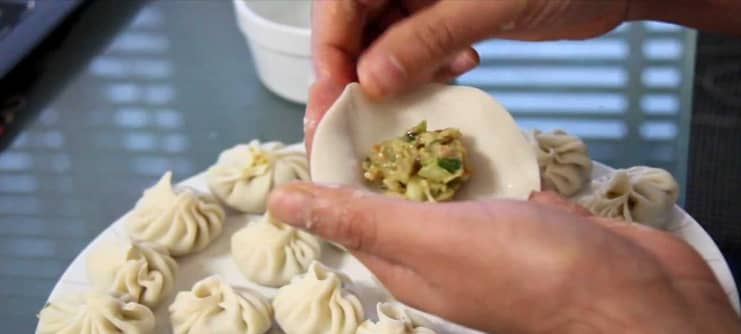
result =
[[293,183],[269,208],[347,247],[401,301],[487,332],[741,331],[684,241],[551,193],[429,204]]

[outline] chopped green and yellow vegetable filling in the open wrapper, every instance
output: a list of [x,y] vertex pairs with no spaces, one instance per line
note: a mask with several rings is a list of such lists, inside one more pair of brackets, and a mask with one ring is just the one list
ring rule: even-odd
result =
[[427,131],[422,121],[404,135],[373,145],[363,177],[382,190],[415,201],[453,199],[470,178],[458,129]]

